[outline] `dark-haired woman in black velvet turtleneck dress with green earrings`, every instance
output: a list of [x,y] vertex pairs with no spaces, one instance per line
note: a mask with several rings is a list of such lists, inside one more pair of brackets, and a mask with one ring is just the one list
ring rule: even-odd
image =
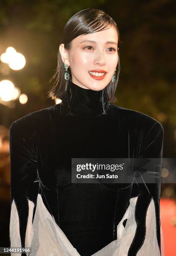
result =
[[159,183],[72,183],[72,158],[161,164],[162,125],[112,104],[118,44],[109,15],[76,13],[64,28],[49,93],[62,102],[10,126],[10,241],[30,255],[161,255]]

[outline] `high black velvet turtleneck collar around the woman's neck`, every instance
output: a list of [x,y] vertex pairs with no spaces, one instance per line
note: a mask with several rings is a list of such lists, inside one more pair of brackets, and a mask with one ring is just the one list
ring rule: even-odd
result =
[[78,116],[101,115],[107,112],[109,100],[106,87],[100,91],[84,89],[71,80],[68,81],[66,97],[62,100],[67,115]]

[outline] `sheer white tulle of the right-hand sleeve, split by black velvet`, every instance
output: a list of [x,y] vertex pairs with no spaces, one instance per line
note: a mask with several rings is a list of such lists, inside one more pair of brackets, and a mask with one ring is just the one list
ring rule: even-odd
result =
[[[94,253],[93,256],[127,256],[130,245],[136,232],[135,207],[137,197],[130,199],[130,204],[119,225],[117,225],[117,240],[109,243],[102,250]],[[124,227],[123,221],[127,219]],[[161,254],[156,238],[156,212],[153,198],[146,213],[146,235],[144,243],[136,256],[164,256],[164,239],[161,227]]]

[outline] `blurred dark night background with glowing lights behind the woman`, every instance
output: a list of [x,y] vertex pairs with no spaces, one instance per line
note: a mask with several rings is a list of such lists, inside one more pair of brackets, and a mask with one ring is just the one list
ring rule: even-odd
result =
[[[163,158],[176,156],[174,0],[0,0],[0,247],[10,246],[9,127],[56,104],[47,92],[59,40],[69,18],[86,8],[104,10],[119,27],[116,104],[158,120],[164,127]],[[161,185],[160,206],[165,255],[176,255],[176,184]]]

